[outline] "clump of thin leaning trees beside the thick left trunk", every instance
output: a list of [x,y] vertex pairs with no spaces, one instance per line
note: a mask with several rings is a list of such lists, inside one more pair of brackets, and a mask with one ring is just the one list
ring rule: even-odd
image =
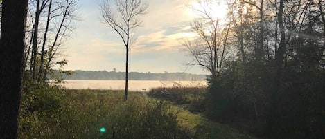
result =
[[25,66],[29,66],[33,80],[46,82],[53,64],[59,66],[67,64],[67,60],[53,62],[53,59],[58,55],[64,41],[69,38],[69,33],[73,31],[73,21],[78,20],[76,15],[78,0],[31,2],[33,4],[30,4],[30,15],[27,19],[30,28],[27,28],[29,31],[26,33],[29,35],[26,37],[29,44],[26,47]]

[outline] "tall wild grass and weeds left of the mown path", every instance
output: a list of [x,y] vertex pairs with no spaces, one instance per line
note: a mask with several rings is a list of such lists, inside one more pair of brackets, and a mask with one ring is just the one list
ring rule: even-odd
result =
[[[26,82],[19,138],[189,138],[164,102],[139,93],[123,101],[121,91],[62,90]],[[105,132],[100,129],[105,127]]]

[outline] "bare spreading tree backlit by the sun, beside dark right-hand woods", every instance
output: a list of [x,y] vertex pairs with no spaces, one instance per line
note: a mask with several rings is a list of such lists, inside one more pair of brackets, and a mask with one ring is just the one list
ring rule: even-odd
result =
[[195,39],[186,39],[183,43],[193,62],[188,66],[201,66],[211,73],[211,80],[216,80],[222,72],[227,57],[230,24],[221,23],[218,17],[213,17],[209,0],[198,2],[199,8],[191,8],[198,17],[191,24]]

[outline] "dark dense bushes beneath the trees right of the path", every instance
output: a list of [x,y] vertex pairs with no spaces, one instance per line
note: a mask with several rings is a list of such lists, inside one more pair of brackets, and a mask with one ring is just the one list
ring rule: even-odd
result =
[[245,66],[246,71],[240,62],[229,62],[228,70],[210,84],[206,100],[209,119],[256,136],[322,137],[324,69],[288,60],[283,68],[281,93],[274,98],[273,65],[252,60]]

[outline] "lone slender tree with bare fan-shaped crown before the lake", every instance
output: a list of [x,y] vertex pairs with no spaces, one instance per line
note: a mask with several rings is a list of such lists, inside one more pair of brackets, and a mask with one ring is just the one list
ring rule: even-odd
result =
[[142,0],[116,0],[116,9],[113,10],[108,1],[100,3],[100,10],[103,23],[113,28],[119,37],[121,37],[125,46],[125,93],[124,100],[128,99],[128,59],[129,50],[135,41],[132,33],[134,28],[141,26],[141,19],[137,18],[139,15],[146,14],[148,5]]

